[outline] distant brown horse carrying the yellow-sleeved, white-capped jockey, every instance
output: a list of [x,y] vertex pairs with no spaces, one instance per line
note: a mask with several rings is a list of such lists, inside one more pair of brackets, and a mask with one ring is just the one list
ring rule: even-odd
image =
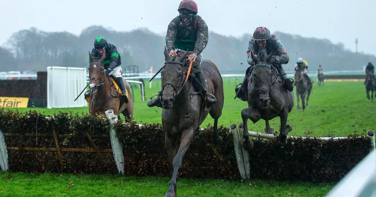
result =
[[[294,74],[295,86],[296,86],[296,100],[297,100],[297,108],[296,110],[299,111],[299,96],[302,99],[302,108],[303,111],[305,108],[308,107],[309,95],[311,95],[312,91],[312,83],[309,83],[308,79],[303,76],[302,71],[296,71]],[[307,97],[306,97],[307,96]],[[305,102],[306,99],[306,102]]]

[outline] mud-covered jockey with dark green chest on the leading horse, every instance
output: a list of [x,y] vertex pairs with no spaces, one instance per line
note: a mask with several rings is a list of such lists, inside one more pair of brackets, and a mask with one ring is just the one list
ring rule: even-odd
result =
[[[208,44],[208,26],[205,21],[197,15],[197,4],[192,0],[183,0],[177,9],[179,16],[175,17],[167,28],[166,47],[170,56],[177,56],[183,51],[193,51],[188,56],[188,60],[193,60],[192,71],[202,86],[196,87],[203,93],[203,96],[211,96],[205,99],[207,105],[215,102],[214,95],[208,93],[205,76],[202,72],[200,63],[202,61],[202,51]],[[180,50],[182,50],[180,52]],[[188,62],[187,62],[188,64]],[[147,105],[149,107],[162,107],[160,104],[160,95],[155,99],[150,99]]]

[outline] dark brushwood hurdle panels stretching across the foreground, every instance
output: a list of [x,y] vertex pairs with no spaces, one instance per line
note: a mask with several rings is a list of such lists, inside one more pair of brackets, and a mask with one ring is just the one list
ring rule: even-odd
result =
[[[19,147],[25,133],[52,134],[55,129],[61,148],[88,148],[93,146],[85,136],[109,135],[109,122],[105,116],[59,113],[53,116],[36,111],[18,113],[0,109],[0,129],[3,133],[19,134],[5,136],[8,147]],[[115,124],[117,137],[123,143],[124,166],[127,175],[170,176],[171,164],[167,158],[161,124],[136,122]],[[215,149],[223,161],[215,155],[211,143],[212,126],[196,131],[190,149],[183,158],[180,177],[240,179],[232,134],[220,126],[223,143]],[[68,134],[69,137],[64,137]],[[23,147],[55,148],[53,137],[23,137]],[[111,149],[109,137],[93,137],[99,149]],[[252,178],[276,180],[305,180],[331,182],[340,180],[369,152],[367,137],[321,141],[317,138],[288,138],[285,144],[273,140],[253,139],[255,148],[250,154]],[[102,153],[62,152],[63,166],[56,152],[9,150],[12,171],[65,172],[89,174],[116,174],[117,168],[111,152]]]

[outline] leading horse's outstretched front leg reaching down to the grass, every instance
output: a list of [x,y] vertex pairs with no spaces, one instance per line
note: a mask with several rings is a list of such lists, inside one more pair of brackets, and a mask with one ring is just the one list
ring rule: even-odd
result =
[[193,139],[195,129],[196,126],[190,126],[182,133],[179,150],[177,151],[176,156],[172,161],[173,173],[169,184],[170,188],[168,188],[165,196],[176,197],[177,175],[179,172],[179,168],[182,165],[183,156],[185,155],[185,152],[188,150],[189,145],[191,144],[191,141]]

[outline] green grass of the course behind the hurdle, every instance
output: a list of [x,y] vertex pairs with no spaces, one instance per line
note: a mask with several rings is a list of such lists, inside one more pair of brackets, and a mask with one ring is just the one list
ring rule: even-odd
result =
[[[223,113],[218,120],[219,125],[229,126],[241,122],[240,112],[247,107],[247,103],[240,99],[234,100],[235,84],[240,83],[240,78],[224,78],[224,106]],[[161,88],[160,82],[154,82],[152,89],[146,83],[146,101],[141,101],[141,91],[134,90],[135,110],[133,117],[137,122],[161,123],[161,108],[147,107],[147,100]],[[294,92],[295,93],[295,92]],[[301,105],[301,104],[300,104]],[[311,137],[327,137],[329,133],[334,137],[346,137],[354,131],[362,132],[364,129],[374,129],[373,121],[376,119],[376,101],[371,102],[365,96],[362,82],[326,82],[325,86],[314,84],[309,108],[305,111],[296,111],[296,98],[294,109],[289,113],[287,123],[293,126],[289,135],[303,136],[310,133]],[[82,108],[20,108],[19,111],[37,110],[44,114],[58,113],[59,111],[72,111],[73,113],[88,113],[87,107]],[[14,109],[12,109],[14,110]],[[121,115],[122,117],[122,115]],[[201,127],[208,123],[213,124],[210,115]],[[256,124],[248,121],[251,131],[264,132],[265,121],[259,120]],[[270,125],[278,131],[279,117],[270,121]]]

